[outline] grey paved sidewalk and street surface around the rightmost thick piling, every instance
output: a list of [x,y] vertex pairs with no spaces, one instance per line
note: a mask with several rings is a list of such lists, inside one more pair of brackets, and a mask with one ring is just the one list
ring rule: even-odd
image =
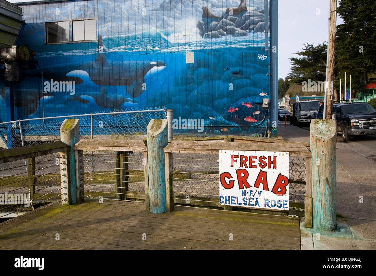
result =
[[[282,125],[278,135],[285,140],[309,143],[308,130]],[[339,135],[337,140],[338,228],[318,231],[302,222],[302,250],[376,250],[376,162],[367,158],[360,145],[343,143]]]

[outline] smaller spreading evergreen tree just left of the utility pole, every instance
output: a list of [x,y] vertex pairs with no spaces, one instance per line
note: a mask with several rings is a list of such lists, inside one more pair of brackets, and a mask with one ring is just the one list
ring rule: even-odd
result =
[[292,83],[303,81],[325,81],[327,45],[323,42],[314,46],[304,44],[302,51],[294,53],[300,57],[291,57],[291,73],[288,75]]

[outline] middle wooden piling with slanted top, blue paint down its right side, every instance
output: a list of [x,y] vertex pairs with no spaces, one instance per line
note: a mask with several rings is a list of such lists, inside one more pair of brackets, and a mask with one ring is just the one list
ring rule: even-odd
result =
[[166,212],[165,156],[168,145],[167,120],[152,119],[147,126],[149,201],[151,213]]

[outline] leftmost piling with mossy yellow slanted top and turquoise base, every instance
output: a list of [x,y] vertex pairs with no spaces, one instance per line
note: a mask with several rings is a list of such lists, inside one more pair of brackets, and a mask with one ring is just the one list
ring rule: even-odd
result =
[[[71,150],[67,152],[67,167],[68,167],[68,186],[70,186],[70,193],[68,193],[70,204],[77,203],[77,194],[80,194],[79,183],[76,182],[76,161],[74,158],[73,146],[80,140],[80,127],[78,119],[65,119],[60,127],[60,139],[62,142],[71,146]],[[70,169],[71,168],[71,169]],[[64,184],[64,183],[62,183]],[[64,203],[64,202],[63,202]]]

